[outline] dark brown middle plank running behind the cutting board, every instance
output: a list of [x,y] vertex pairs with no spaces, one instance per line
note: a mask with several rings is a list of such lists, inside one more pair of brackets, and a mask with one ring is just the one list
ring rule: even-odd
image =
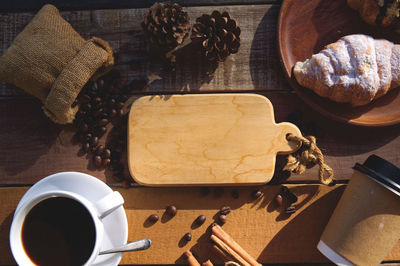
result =
[[[371,154],[400,165],[400,125],[363,128],[344,125],[316,114],[294,93],[262,93],[274,106],[277,122],[287,121],[293,112],[303,113],[297,123],[303,134],[317,127],[317,144],[339,180],[348,180],[356,162]],[[90,157],[82,155],[73,142],[74,129],[52,123],[42,113],[40,102],[31,98],[0,100],[0,177],[2,184],[33,184],[50,174],[75,170],[115,183],[112,171],[95,170]],[[312,126],[314,125],[314,126]],[[106,137],[101,141],[104,142]],[[128,172],[126,171],[128,175]],[[289,181],[317,181],[317,167]]]

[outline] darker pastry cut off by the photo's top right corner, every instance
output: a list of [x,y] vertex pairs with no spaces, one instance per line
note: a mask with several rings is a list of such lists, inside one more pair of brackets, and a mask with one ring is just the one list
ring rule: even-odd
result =
[[396,31],[399,31],[400,0],[347,0],[347,4],[357,10],[368,24],[383,27],[395,25]]

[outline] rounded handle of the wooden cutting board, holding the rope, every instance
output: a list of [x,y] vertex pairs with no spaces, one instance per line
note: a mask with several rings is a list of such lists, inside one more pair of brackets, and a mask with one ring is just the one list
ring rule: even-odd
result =
[[[295,136],[302,136],[300,129],[289,122],[282,122],[276,125],[278,128],[278,137],[276,138],[276,144],[274,146],[277,146],[277,153],[278,154],[289,154],[297,151],[301,143],[293,142],[287,140],[286,136],[289,134],[295,135]],[[275,141],[275,140],[274,140]]]

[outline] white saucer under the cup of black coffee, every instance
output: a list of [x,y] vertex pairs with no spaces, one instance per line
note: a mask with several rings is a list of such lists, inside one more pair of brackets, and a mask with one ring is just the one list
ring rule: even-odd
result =
[[[50,190],[65,190],[79,194],[91,202],[96,202],[113,190],[101,180],[78,172],[62,172],[43,178],[34,184],[21,198],[16,211],[37,193]],[[16,212],[15,211],[15,212]],[[123,206],[102,219],[104,224],[103,244],[100,250],[107,250],[126,244],[128,221]],[[92,265],[118,265],[122,253],[100,255]]]

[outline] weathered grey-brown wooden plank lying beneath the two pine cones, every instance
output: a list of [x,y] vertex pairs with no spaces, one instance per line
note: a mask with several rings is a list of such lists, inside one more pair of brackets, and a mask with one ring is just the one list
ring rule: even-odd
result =
[[[139,9],[65,11],[62,16],[83,38],[108,41],[116,53],[116,67],[128,83],[157,75],[145,92],[289,90],[276,49],[276,19],[279,5],[187,7],[191,23],[213,10],[228,11],[241,27],[241,46],[218,66],[201,60],[188,46],[177,53],[175,71],[150,49],[141,33],[147,11]],[[34,13],[0,13],[0,54],[33,18]],[[11,85],[0,84],[0,95],[23,95]]]

